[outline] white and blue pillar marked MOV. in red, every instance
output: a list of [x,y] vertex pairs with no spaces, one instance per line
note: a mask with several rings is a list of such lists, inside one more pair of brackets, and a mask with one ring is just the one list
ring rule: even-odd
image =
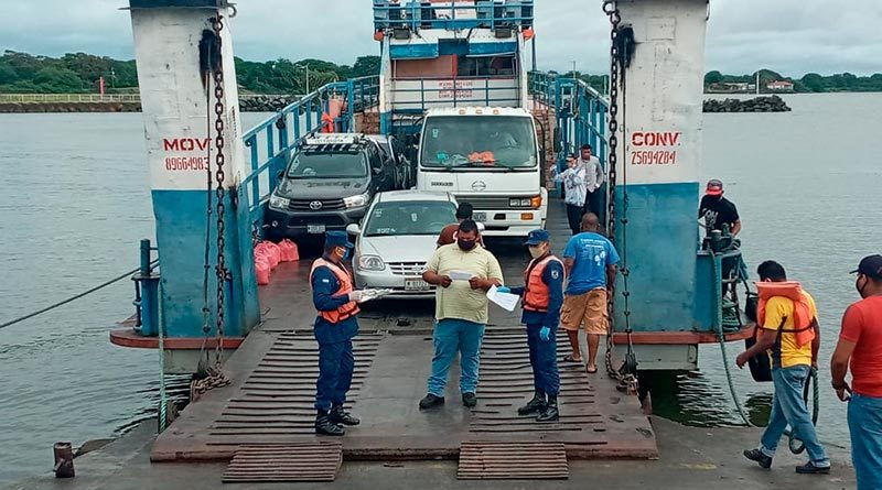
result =
[[[249,166],[244,156],[230,9],[226,0],[130,0],[138,83],[144,118],[153,214],[162,284],[162,313],[169,337],[202,337],[203,271],[209,242],[209,325],[216,325],[217,214],[213,187],[215,155],[214,81],[203,85],[200,41],[213,30],[219,10],[224,73],[224,155],[226,173],[225,334],[243,336],[257,325],[259,308],[250,243],[248,200],[239,184]],[[212,199],[211,229],[206,208]],[[125,213],[125,210],[123,210]]]

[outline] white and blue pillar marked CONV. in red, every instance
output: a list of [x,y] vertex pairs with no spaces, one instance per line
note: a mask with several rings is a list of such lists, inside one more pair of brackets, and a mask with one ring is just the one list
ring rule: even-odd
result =
[[[620,0],[619,9],[636,43],[620,88],[625,133],[619,134],[616,192],[619,218],[627,192],[631,324],[638,331],[689,330],[696,325],[707,1]],[[623,232],[616,224],[620,253]],[[619,328],[623,311],[619,295]]]

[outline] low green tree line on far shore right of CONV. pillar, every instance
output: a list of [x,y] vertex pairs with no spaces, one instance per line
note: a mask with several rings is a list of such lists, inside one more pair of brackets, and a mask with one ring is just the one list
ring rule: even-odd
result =
[[[775,80],[786,80],[793,83],[794,91],[797,92],[826,92],[826,91],[882,91],[882,73],[871,76],[860,77],[850,73],[840,73],[824,76],[817,73],[808,73],[802,78],[782,76],[771,69],[760,70],[760,88],[765,88],[767,84]],[[704,75],[704,86],[720,86],[728,83],[756,83],[756,72],[750,75],[723,75],[720,72],[708,72]]]

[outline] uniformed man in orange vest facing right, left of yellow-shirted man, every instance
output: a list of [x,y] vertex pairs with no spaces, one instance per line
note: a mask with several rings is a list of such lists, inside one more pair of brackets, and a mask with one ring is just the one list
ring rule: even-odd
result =
[[353,279],[343,263],[353,246],[342,231],[325,235],[324,254],[312,263],[310,283],[312,303],[319,312],[315,318],[315,340],[319,341],[319,381],[315,391],[315,434],[342,436],[343,425],[358,425],[343,410],[346,392],[355,368],[352,339],[358,334],[358,302],[361,291],[353,290]]

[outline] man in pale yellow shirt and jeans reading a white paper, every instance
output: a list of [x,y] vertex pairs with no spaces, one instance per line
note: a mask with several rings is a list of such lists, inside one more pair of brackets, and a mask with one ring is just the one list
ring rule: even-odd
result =
[[460,392],[466,407],[477,404],[477,371],[481,341],[487,324],[487,291],[503,284],[499,261],[477,246],[477,224],[460,224],[456,243],[440,247],[426,264],[422,279],[435,290],[434,357],[428,394],[420,401],[427,410],[444,404],[448,371],[460,353]]

